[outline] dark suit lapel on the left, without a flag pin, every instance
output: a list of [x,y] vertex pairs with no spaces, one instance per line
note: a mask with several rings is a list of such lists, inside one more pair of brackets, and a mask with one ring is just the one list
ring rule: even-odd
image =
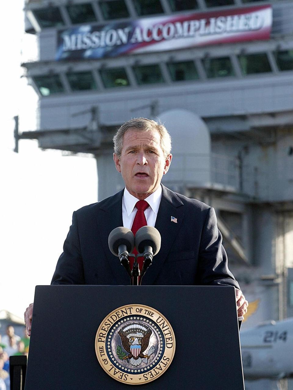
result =
[[123,226],[122,219],[122,197],[123,191],[118,192],[112,197],[108,198],[99,208],[98,213],[98,231],[101,232],[101,243],[104,254],[110,263],[111,269],[119,285],[129,285],[130,278],[126,270],[121,266],[118,257],[114,256],[108,246],[108,237],[110,232],[115,227]]

